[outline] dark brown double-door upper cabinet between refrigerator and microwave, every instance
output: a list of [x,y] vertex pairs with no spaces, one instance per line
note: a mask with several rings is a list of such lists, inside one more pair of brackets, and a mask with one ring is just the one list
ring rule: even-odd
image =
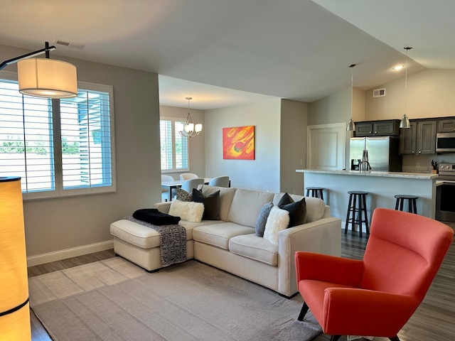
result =
[[410,121],[409,129],[401,129],[400,154],[436,153],[435,120]]

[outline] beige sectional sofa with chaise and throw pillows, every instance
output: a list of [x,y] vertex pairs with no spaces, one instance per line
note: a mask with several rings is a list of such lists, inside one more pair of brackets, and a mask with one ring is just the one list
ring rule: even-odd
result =
[[[187,259],[197,259],[232,274],[270,288],[283,296],[297,292],[294,252],[313,251],[339,256],[341,220],[330,216],[330,207],[316,197],[306,197],[306,223],[278,233],[274,245],[255,234],[257,217],[267,202],[277,205],[284,193],[269,193],[241,188],[204,185],[203,195],[220,190],[220,220],[187,222]],[[294,201],[299,195],[291,195]],[[156,208],[168,213],[171,202],[159,202]],[[147,271],[160,269],[158,232],[129,220],[113,222],[114,251]]]

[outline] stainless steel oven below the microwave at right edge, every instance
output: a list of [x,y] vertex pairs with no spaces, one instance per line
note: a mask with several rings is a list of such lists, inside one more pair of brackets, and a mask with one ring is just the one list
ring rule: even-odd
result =
[[455,163],[439,163],[436,219],[455,222]]

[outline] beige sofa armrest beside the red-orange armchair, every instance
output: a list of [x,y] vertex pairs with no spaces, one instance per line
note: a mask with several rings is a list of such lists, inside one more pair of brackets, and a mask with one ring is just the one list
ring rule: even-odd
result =
[[278,233],[279,292],[291,296],[297,292],[294,254],[309,251],[341,256],[341,219],[322,218]]

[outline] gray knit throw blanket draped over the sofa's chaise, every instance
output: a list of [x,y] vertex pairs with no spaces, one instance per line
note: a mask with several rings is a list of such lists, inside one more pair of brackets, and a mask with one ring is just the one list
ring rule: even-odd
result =
[[157,226],[149,224],[148,222],[143,222],[142,220],[134,219],[133,217],[126,217],[125,219],[150,227],[159,233],[161,263],[163,266],[169,266],[186,261],[185,227],[178,224]]

